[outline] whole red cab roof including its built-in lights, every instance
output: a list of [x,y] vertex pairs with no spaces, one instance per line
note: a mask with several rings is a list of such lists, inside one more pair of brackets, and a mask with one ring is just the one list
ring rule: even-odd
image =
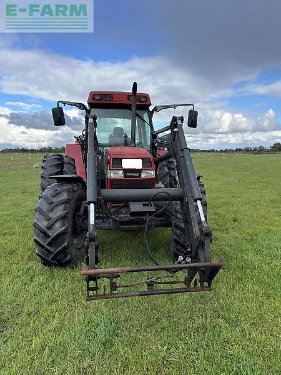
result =
[[[121,91],[91,91],[88,97],[88,104],[90,106],[100,104],[131,104],[132,92]],[[151,100],[148,94],[137,93],[136,104],[143,106],[150,106]]]

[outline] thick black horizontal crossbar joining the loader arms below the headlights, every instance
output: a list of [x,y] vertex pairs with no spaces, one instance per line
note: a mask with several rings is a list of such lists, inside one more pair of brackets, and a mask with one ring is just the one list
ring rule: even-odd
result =
[[[157,195],[155,195],[156,193]],[[184,197],[182,188],[100,190],[101,198],[105,202],[112,203],[148,202],[154,195],[152,201],[155,202],[168,201],[169,199],[171,201],[182,201]]]

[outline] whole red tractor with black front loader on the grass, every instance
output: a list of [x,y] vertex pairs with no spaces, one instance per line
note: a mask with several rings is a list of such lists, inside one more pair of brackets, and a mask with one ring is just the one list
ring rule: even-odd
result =
[[[65,156],[46,155],[42,163],[41,194],[34,219],[36,254],[44,266],[75,266],[86,259],[87,299],[143,296],[211,290],[224,259],[211,262],[211,229],[200,175],[187,147],[183,117],[154,130],[152,117],[166,108],[190,106],[187,125],[197,126],[193,104],[156,106],[148,94],[90,92],[88,107],[59,101],[52,109],[55,126],[65,124],[63,108],[85,111],[85,129],[67,144]],[[172,264],[160,264],[148,246],[148,230],[172,228]],[[144,247],[153,265],[99,269],[100,229],[144,231]],[[168,281],[158,281],[166,271]],[[176,273],[185,272],[181,281]],[[152,272],[130,285],[116,279],[128,272]],[[109,280],[109,292],[100,279]],[[172,278],[172,279],[171,279]],[[136,285],[145,288],[136,290]],[[175,287],[182,284],[182,287]],[[164,285],[164,287],[163,287]],[[120,288],[127,288],[119,292]],[[129,289],[129,291],[127,291]]]

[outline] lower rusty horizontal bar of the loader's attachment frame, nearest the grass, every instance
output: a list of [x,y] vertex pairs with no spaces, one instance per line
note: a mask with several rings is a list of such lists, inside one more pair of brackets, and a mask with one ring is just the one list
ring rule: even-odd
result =
[[158,289],[158,290],[141,290],[135,292],[112,293],[112,294],[96,294],[88,296],[87,301],[108,300],[112,298],[123,297],[139,297],[139,296],[155,296],[157,294],[174,294],[174,293],[190,293],[190,292],[209,292],[209,287],[191,287],[191,288],[175,288],[175,289]]

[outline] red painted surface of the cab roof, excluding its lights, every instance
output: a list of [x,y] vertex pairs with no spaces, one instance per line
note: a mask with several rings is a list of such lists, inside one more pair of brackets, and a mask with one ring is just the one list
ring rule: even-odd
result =
[[[93,95],[101,95],[101,100],[94,100]],[[112,95],[113,100],[104,100],[103,95]],[[131,104],[128,100],[128,95],[132,95],[132,92],[120,92],[120,91],[91,91],[88,97],[88,104],[103,103],[103,104]],[[147,101],[141,102],[140,96],[145,96]],[[148,94],[137,93],[136,102],[138,105],[151,105],[151,100]]]

